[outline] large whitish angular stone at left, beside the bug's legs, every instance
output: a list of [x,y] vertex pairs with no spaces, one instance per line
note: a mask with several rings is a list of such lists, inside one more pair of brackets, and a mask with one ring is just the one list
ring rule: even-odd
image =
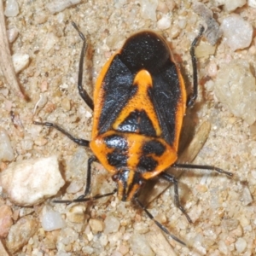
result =
[[1,173],[1,178],[9,200],[23,207],[56,195],[65,183],[56,156],[12,163]]

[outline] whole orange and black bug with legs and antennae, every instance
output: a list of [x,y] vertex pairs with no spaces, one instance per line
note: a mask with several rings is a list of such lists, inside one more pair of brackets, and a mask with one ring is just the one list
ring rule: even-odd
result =
[[[176,205],[191,222],[178,199],[177,179],[166,173],[166,169],[170,166],[208,169],[232,176],[232,173],[214,166],[177,163],[183,115],[186,107],[192,106],[197,96],[195,45],[201,37],[203,28],[190,49],[194,73],[193,93],[190,96],[186,95],[183,77],[166,41],[154,32],[144,31],[128,38],[122,49],[102,68],[92,101],[82,87],[86,40],[74,23],[73,26],[84,42],[79,62],[78,87],[84,102],[94,110],[91,141],[77,139],[55,124],[34,124],[54,127],[74,143],[90,146],[95,154],[88,160],[84,195],[74,201],[96,200],[117,192],[121,201],[134,201],[161,230],[184,245],[183,241],[173,236],[153,218],[138,200],[138,195],[143,184],[153,177],[161,177],[174,183]],[[107,195],[85,198],[90,194],[93,161],[102,163],[102,166],[113,175],[117,189]]]

